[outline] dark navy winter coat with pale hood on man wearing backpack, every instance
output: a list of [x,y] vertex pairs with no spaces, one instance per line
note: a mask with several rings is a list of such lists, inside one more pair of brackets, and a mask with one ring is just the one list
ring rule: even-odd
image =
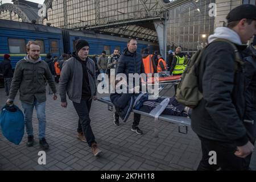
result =
[[[238,52],[242,45],[238,34],[226,27],[219,27],[209,36],[233,42]],[[242,65],[235,73],[235,53],[226,42],[214,42],[203,53],[198,75],[199,90],[203,99],[192,111],[191,126],[195,133],[210,140],[243,146],[249,141],[243,118],[245,114],[245,75]]]

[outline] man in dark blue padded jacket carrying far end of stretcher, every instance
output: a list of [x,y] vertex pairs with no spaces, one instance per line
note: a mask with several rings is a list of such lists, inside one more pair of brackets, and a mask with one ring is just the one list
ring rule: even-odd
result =
[[[117,67],[118,73],[125,73],[127,78],[129,78],[129,73],[144,73],[144,67],[142,63],[141,54],[137,53],[137,40],[131,39],[127,42],[127,48],[123,51],[123,55],[120,57]],[[127,81],[129,82],[129,81]],[[119,125],[118,114],[114,114],[114,123]],[[141,114],[134,113],[134,122],[131,127],[131,131],[135,131],[137,134],[142,135],[143,131],[139,129],[139,121],[141,120]]]

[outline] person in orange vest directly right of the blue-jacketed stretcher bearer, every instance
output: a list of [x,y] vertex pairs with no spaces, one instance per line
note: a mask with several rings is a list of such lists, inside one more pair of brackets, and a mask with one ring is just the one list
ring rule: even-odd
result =
[[148,49],[144,49],[143,55],[142,55],[142,61],[144,65],[145,73],[156,73],[156,64],[154,59],[152,59],[153,55],[149,54]]

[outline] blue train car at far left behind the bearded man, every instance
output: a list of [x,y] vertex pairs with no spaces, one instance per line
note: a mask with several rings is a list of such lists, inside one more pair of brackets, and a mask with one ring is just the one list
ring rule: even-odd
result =
[[8,53],[15,68],[15,64],[27,55],[26,44],[30,40],[40,44],[42,59],[48,52],[60,56],[63,53],[62,39],[59,28],[0,19],[0,60]]

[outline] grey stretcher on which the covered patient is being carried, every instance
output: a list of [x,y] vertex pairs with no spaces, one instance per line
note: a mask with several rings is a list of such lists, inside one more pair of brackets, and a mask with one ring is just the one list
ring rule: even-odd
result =
[[[110,101],[110,97],[98,98],[98,101],[100,101],[104,104],[107,104],[108,105],[108,110],[113,111],[114,105]],[[138,114],[144,115],[146,117],[150,117],[150,118],[155,119],[155,116],[150,114],[150,113],[146,113],[144,111],[135,110],[135,109],[133,109],[132,111],[134,113],[138,113]],[[191,126],[191,119],[187,118],[187,117],[179,117],[179,116],[175,116],[175,115],[161,114],[161,115],[159,115],[158,119],[162,120],[162,121],[175,123],[175,124],[179,125],[179,133],[181,133],[181,134],[187,134],[188,133],[188,127]],[[185,131],[183,131],[183,130],[185,130]]]

